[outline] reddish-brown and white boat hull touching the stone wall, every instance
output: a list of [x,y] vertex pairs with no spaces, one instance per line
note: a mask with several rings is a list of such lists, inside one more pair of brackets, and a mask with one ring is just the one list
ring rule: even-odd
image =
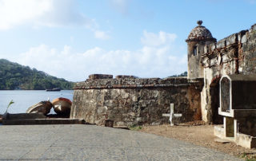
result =
[[66,98],[57,98],[52,101],[54,112],[58,115],[70,115],[70,108],[72,102]]

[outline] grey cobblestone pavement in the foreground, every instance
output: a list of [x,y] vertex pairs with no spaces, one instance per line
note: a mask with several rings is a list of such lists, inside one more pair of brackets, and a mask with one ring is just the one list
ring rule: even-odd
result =
[[158,135],[93,125],[0,126],[2,160],[238,160]]

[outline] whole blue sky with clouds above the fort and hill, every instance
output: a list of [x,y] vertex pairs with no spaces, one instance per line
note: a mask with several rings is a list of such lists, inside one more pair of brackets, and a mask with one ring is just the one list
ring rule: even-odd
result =
[[0,58],[69,81],[168,77],[198,20],[220,40],[256,23],[256,0],[0,0]]

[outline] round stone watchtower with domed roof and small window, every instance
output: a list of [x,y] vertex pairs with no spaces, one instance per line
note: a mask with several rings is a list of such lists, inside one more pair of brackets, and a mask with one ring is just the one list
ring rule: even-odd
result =
[[210,31],[202,26],[202,21],[198,21],[198,26],[191,30],[186,39],[188,54],[188,79],[203,78],[203,67],[201,56],[204,52],[205,45],[216,42]]

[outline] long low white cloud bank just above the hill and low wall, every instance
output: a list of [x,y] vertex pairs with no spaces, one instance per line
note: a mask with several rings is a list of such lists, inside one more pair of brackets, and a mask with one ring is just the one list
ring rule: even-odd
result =
[[[152,37],[147,37],[148,35],[161,40],[158,42],[160,45],[155,45],[151,40]],[[11,61],[29,65],[31,68],[70,81],[84,81],[93,73],[168,77],[186,71],[186,51],[174,48],[173,35],[165,32],[146,33],[142,40],[147,43],[141,49],[134,51],[123,49],[107,51],[95,47],[82,53],[74,53],[68,45],[63,49],[39,45]]]

